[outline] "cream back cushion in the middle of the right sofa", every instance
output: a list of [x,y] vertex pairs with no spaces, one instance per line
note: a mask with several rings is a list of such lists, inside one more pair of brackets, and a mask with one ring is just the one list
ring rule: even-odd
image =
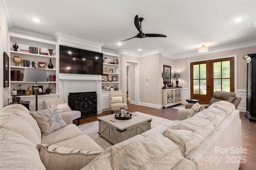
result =
[[170,126],[163,135],[178,145],[186,155],[213,131],[214,125],[209,120],[191,117]]

